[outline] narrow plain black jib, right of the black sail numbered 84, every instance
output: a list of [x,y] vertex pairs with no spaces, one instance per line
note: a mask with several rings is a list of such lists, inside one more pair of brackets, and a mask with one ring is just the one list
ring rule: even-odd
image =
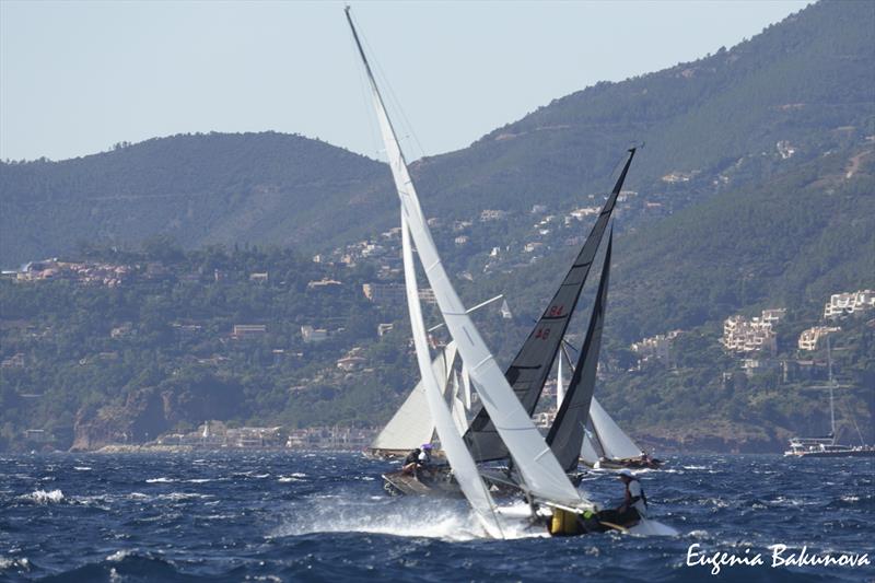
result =
[[[547,434],[547,443],[552,447],[559,464],[571,471],[578,467],[590,403],[595,390],[595,373],[598,366],[598,353],[602,349],[602,330],[605,326],[605,308],[608,301],[608,280],[610,278],[610,252],[614,246],[614,232],[608,236],[608,249],[602,266],[602,279],[598,282],[593,313],[586,329],[581,354],[571,382],[568,385],[562,406]],[[561,355],[559,362],[562,362]]]

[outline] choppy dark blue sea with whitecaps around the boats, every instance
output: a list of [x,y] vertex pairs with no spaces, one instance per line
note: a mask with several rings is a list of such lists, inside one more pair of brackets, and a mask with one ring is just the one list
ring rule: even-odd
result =
[[[772,568],[773,544],[873,553],[872,460],[685,456],[642,475],[674,538],[487,540],[464,503],[390,499],[388,463],[352,454],[0,458],[2,581],[860,581],[875,568]],[[621,486],[594,474],[602,503]],[[762,567],[687,567],[687,550]],[[875,562],[875,560],[873,560]]]

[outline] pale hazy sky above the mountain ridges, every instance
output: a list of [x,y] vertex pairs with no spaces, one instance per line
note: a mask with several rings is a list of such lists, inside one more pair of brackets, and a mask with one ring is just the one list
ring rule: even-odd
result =
[[[421,143],[405,143],[413,159],[598,81],[728,48],[808,1],[351,3]],[[298,132],[376,158],[342,7],[0,0],[0,158],[212,130]]]

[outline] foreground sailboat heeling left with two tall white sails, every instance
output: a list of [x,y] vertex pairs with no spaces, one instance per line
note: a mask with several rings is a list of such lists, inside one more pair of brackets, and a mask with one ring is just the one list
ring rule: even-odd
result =
[[[516,485],[525,492],[530,509],[534,512],[536,504],[551,509],[555,524],[557,520],[562,524],[580,523],[581,520],[594,521],[598,524],[592,514],[592,511],[596,510],[594,504],[586,500],[569,480],[552,450],[535,427],[529,413],[517,399],[504,374],[499,369],[494,357],[483,342],[477,327],[470,319],[468,311],[465,310],[458,294],[450,282],[420,208],[397,136],[359,40],[355,26],[352,23],[349,8],[347,8],[346,12],[355,45],[368,73],[381,133],[386,145],[389,167],[401,201],[405,288],[417,362],[422,376],[429,409],[434,419],[435,431],[441,440],[455,479],[487,534],[492,537],[503,537],[499,518],[500,513],[483,483],[471,452],[468,451],[458,428],[454,427],[451,408],[443,398],[443,393],[431,366],[431,355],[419,303],[411,240],[412,244],[416,245],[425,277],[434,292],[438,307],[447,330],[456,342],[462,362],[466,365],[470,384],[479,395],[497,433],[510,453],[517,473]],[[628,170],[628,163],[626,170]],[[629,529],[629,532],[634,532],[634,528],[638,528],[642,534],[676,534],[667,527],[661,533],[651,533],[657,526],[662,525],[642,518],[640,524],[633,529]],[[553,527],[551,527],[550,532],[553,532]]]

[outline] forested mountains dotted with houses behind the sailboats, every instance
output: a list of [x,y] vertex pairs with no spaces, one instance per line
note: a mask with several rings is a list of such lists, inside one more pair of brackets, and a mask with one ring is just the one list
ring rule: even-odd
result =
[[[803,392],[822,382],[825,354],[795,342],[822,324],[830,294],[875,288],[873,62],[875,4],[819,2],[730,50],[600,83],[415,163],[465,302],[505,293],[513,307],[512,320],[477,316],[499,359],[588,231],[572,209],[600,205],[628,145],[646,142],[614,222],[599,398],[655,443],[762,451],[819,431],[826,409]],[[400,281],[382,270],[398,264],[381,233],[398,214],[376,161],[300,136],[175,136],[3,163],[0,205],[3,267],[60,256],[85,273],[0,281],[0,448],[24,447],[33,427],[88,447],[208,418],[381,423],[415,381],[402,305],[361,293]],[[509,213],[481,221],[485,209]],[[353,267],[305,259],[339,259],[360,240],[383,255],[359,245]],[[130,271],[116,284],[119,267]],[[788,308],[773,364],[809,360],[808,376],[745,375],[720,347],[727,316],[767,307]],[[377,337],[380,323],[395,334]],[[236,338],[235,324],[267,329]],[[875,327],[871,315],[838,324],[837,374],[854,387],[842,406],[856,416],[840,417],[871,433]],[[332,334],[310,343],[304,325]],[[633,371],[630,343],[673,329],[672,365]],[[340,371],[348,354],[366,368]]]

